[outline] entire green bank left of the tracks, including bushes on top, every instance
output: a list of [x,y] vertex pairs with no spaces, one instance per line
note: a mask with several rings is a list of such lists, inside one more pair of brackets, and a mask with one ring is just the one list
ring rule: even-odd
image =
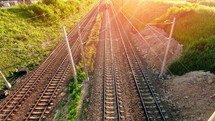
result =
[[[96,1],[68,1],[57,4],[0,9],[0,69],[8,79],[21,67],[32,70],[63,39],[61,27],[71,30]],[[3,81],[0,80],[0,89]]]

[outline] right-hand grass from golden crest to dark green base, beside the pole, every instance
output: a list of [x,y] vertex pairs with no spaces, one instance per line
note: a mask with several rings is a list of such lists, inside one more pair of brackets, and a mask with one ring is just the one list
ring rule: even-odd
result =
[[[194,70],[215,73],[215,8],[202,5],[172,7],[159,22],[173,17],[177,18],[173,36],[184,45],[185,51],[169,69],[178,75]],[[160,27],[169,32],[170,26]]]

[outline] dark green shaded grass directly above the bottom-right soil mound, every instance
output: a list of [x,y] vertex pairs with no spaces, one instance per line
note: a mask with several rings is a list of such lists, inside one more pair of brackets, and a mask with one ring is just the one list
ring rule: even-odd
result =
[[[171,64],[169,69],[177,75],[182,75],[189,71],[204,70],[215,73],[215,36],[208,39],[201,39],[189,49],[183,56]],[[186,66],[186,68],[183,65]]]

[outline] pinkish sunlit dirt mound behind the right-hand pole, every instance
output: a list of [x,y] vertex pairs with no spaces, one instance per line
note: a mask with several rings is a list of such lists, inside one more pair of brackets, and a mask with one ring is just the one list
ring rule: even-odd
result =
[[[140,34],[131,34],[134,45],[140,52],[141,57],[148,64],[148,68],[159,71],[162,66],[168,34],[162,29],[146,26]],[[175,39],[171,40],[166,65],[178,59],[183,51],[183,45]]]

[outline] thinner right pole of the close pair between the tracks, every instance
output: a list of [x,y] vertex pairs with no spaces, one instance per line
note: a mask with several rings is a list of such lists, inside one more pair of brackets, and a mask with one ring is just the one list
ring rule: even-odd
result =
[[83,49],[83,42],[82,42],[82,36],[81,36],[81,32],[80,32],[80,24],[79,22],[77,23],[78,25],[78,36],[79,36],[79,41],[80,41],[80,45],[81,45],[81,56],[82,56],[82,60],[83,60],[83,64],[84,64],[84,71],[86,73],[86,80],[89,81],[89,75],[88,75],[88,71],[87,71],[87,67],[86,67],[86,60],[84,57],[84,49]]

